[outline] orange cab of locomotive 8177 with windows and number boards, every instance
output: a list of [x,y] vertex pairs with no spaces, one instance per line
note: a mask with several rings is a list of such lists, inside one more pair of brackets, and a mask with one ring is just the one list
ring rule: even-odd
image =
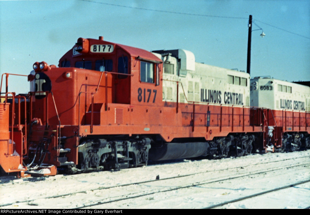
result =
[[[89,49],[84,48],[88,46]],[[137,83],[149,83],[145,86],[159,85],[159,71],[161,60],[143,49],[137,49],[121,44],[114,44],[103,40],[79,38],[72,50],[68,51],[59,61],[59,67],[74,67],[89,69],[112,74],[111,102],[130,104],[141,102],[137,98],[135,88]],[[148,87],[150,88],[150,87]],[[148,89],[142,88],[140,89]],[[153,88],[153,87],[152,87]],[[149,89],[157,91],[157,89]],[[140,90],[139,90],[140,91]],[[155,97],[156,98],[156,97]],[[133,101],[131,101],[133,99]],[[145,98],[143,97],[143,101]],[[148,101],[150,98],[148,98]],[[153,100],[152,100],[153,101]],[[155,100],[154,102],[155,103]]]

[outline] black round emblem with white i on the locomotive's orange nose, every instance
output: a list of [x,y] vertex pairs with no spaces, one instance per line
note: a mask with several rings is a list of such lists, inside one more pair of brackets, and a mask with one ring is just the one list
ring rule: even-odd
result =
[[43,72],[38,72],[35,75],[35,86],[36,86],[36,99],[42,99],[46,96],[46,92],[51,91],[51,80],[50,78]]

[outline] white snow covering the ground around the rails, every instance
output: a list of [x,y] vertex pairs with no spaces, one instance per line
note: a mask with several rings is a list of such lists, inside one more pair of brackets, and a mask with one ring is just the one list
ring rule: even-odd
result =
[[[303,158],[301,158],[303,157]],[[281,161],[285,159],[293,159],[287,161]],[[281,162],[280,162],[281,161]],[[92,191],[87,191],[91,189],[97,189],[99,187],[110,187],[115,185],[124,185],[133,182],[143,182],[148,180],[155,180],[156,176],[159,175],[160,179],[169,178],[177,175],[187,175],[192,173],[207,172],[206,175],[201,175],[201,177],[217,178],[222,177],[222,173],[227,169],[234,168],[231,171],[232,176],[238,173],[244,172],[254,172],[258,168],[270,168],[275,166],[288,166],[290,163],[310,163],[310,150],[303,152],[291,152],[291,153],[267,153],[267,154],[252,154],[246,157],[238,158],[226,158],[220,160],[178,160],[169,163],[161,164],[151,164],[141,168],[123,169],[120,171],[99,171],[91,173],[82,173],[77,175],[56,175],[50,177],[29,177],[17,179],[13,176],[1,176],[0,177],[0,205],[13,203],[12,205],[2,206],[0,208],[14,208],[14,209],[26,209],[26,208],[37,208],[41,209],[43,205],[43,199],[46,196],[55,196],[65,193],[72,193],[78,191],[86,191],[87,197],[91,198]],[[262,163],[264,163],[262,165]],[[308,165],[309,166],[309,165]],[[128,201],[125,203],[114,203],[109,205],[99,205],[93,208],[203,208],[208,206],[209,200],[206,200],[208,195],[214,195],[217,201],[226,201],[230,193],[237,195],[249,187],[253,189],[259,187],[262,183],[274,183],[279,185],[285,184],[289,185],[295,183],[296,181],[302,181],[310,179],[310,169],[309,167],[301,166],[299,169],[285,168],[283,169],[283,174],[281,171],[278,173],[270,173],[266,175],[268,177],[268,182],[263,181],[263,176],[258,177],[254,180],[255,182],[245,183],[244,179],[236,179],[232,185],[222,185],[219,188],[208,186],[199,187],[199,192],[195,191],[196,194],[190,195],[188,190],[177,190],[172,194],[157,194],[153,196],[145,196],[134,202]],[[226,171],[227,174],[227,171]],[[293,175],[292,177],[286,177],[287,175]],[[287,178],[287,179],[286,179]],[[194,179],[193,179],[194,180]],[[196,180],[196,179],[195,179]],[[164,183],[164,181],[159,181]],[[226,187],[226,188],[225,188]],[[254,200],[249,200],[252,202],[249,205],[242,204],[229,204],[228,206],[222,208],[262,208],[261,205],[268,205],[267,208],[303,208],[307,202],[310,206],[310,186],[308,184],[298,185],[300,188],[298,192],[292,188],[291,190],[283,191],[283,194],[270,194],[270,198],[274,199],[276,203],[267,204],[266,198],[256,197]],[[135,190],[134,187],[128,186],[119,189],[119,195],[124,192],[124,190],[130,191]],[[211,193],[211,189],[214,191]],[[197,189],[198,190],[198,189]],[[104,191],[107,192],[107,191]],[[186,196],[188,192],[188,196]],[[217,192],[217,194],[216,194]],[[287,199],[285,192],[291,194],[291,199]],[[98,195],[98,194],[96,194]],[[81,195],[82,196],[82,195]],[[97,196],[98,197],[98,196]],[[96,197],[96,198],[97,198]],[[71,197],[72,198],[72,197]],[[84,198],[84,197],[81,197]],[[19,203],[21,201],[35,199],[33,204],[23,204]],[[94,196],[95,199],[95,196]],[[166,201],[157,201],[157,200]],[[168,201],[169,200],[169,201]],[[172,201],[174,200],[174,201]],[[63,198],[63,203],[70,205],[72,199]],[[176,201],[179,201],[176,203]],[[306,203],[304,203],[306,201]],[[253,204],[255,202],[255,204]],[[46,203],[44,203],[46,204]],[[300,204],[300,205],[299,205]],[[70,207],[76,207],[76,203],[72,203]],[[44,208],[58,208],[59,205],[45,205]],[[307,206],[307,205],[306,205]]]

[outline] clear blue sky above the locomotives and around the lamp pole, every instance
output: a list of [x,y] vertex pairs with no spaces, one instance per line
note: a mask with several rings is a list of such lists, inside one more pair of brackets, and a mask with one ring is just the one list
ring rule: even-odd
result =
[[[0,73],[58,65],[79,37],[99,36],[148,51],[186,49],[197,62],[246,71],[249,15],[257,25],[251,77],[310,81],[309,0],[0,1]],[[9,83],[29,91],[26,77]]]

